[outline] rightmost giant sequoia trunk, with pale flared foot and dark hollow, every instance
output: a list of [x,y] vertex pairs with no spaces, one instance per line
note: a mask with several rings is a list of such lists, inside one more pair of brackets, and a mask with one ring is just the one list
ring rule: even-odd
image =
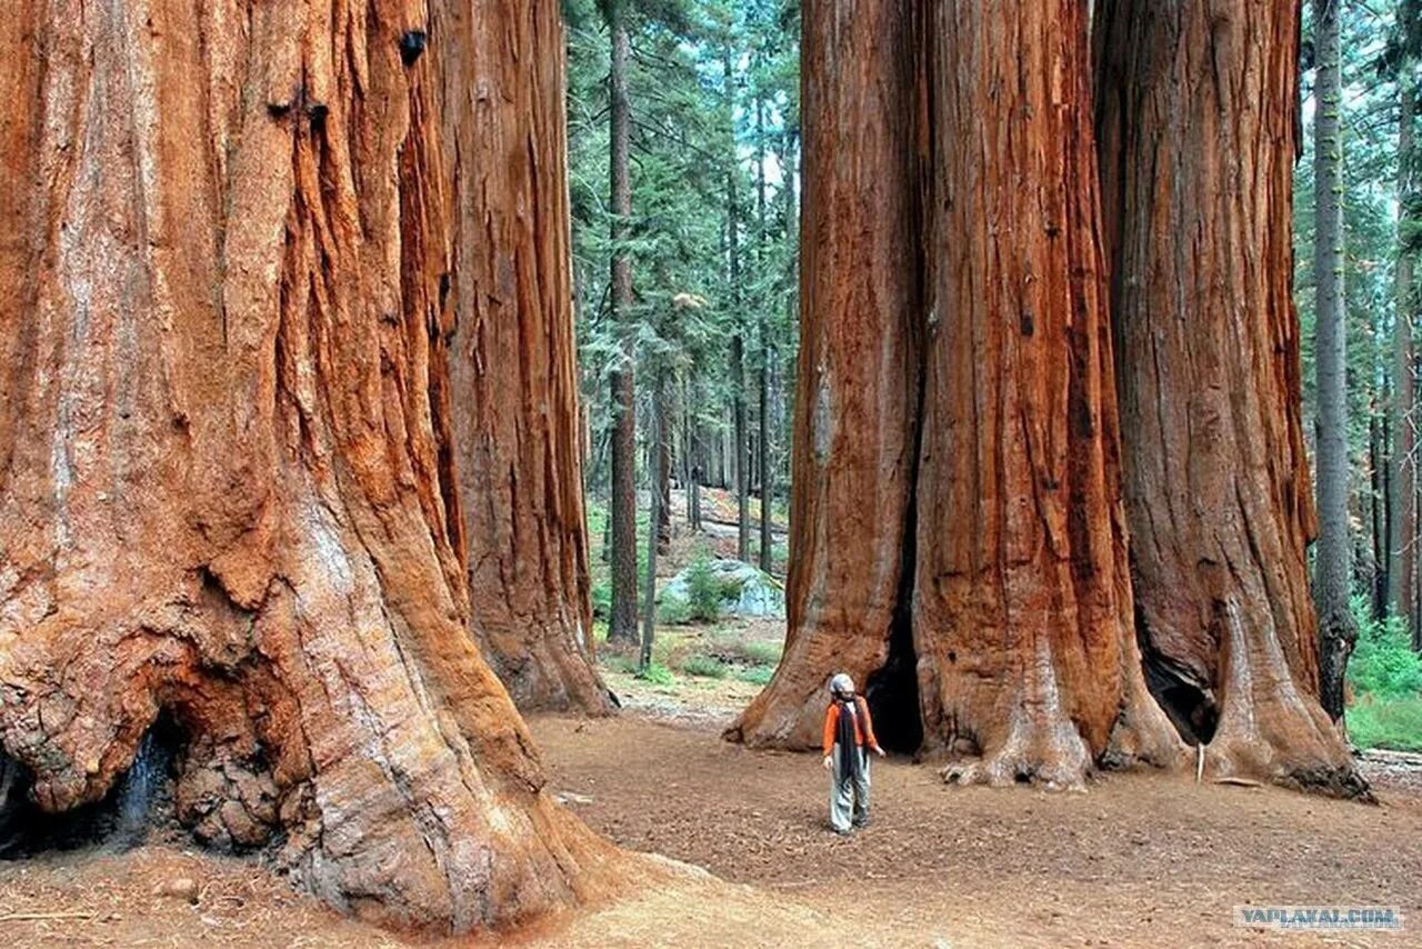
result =
[[1098,127],[1139,637],[1209,767],[1358,792],[1318,704],[1290,282],[1297,4],[1106,0]]

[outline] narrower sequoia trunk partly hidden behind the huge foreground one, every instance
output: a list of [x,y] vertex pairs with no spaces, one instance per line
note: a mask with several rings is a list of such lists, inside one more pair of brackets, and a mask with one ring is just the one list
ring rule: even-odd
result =
[[557,0],[451,4],[449,398],[472,629],[523,710],[604,713],[592,663]]

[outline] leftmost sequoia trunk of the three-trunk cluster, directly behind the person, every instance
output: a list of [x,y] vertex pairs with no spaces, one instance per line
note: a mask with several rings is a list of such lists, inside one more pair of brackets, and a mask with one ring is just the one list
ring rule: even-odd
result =
[[[818,744],[826,679],[845,670],[863,683],[882,669],[896,622],[921,312],[904,121],[913,112],[912,9],[910,0],[803,9],[789,629],[771,687],[735,726],[751,744]],[[909,706],[916,723],[912,696]],[[897,737],[893,724],[880,731]]]

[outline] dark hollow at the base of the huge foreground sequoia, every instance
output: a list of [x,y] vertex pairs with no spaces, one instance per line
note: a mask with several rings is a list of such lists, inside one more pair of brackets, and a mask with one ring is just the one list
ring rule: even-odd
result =
[[34,801],[33,774],[0,751],[0,859],[95,845],[122,851],[141,845],[149,831],[173,825],[173,768],[185,743],[176,720],[159,713],[102,800],[58,814]]

